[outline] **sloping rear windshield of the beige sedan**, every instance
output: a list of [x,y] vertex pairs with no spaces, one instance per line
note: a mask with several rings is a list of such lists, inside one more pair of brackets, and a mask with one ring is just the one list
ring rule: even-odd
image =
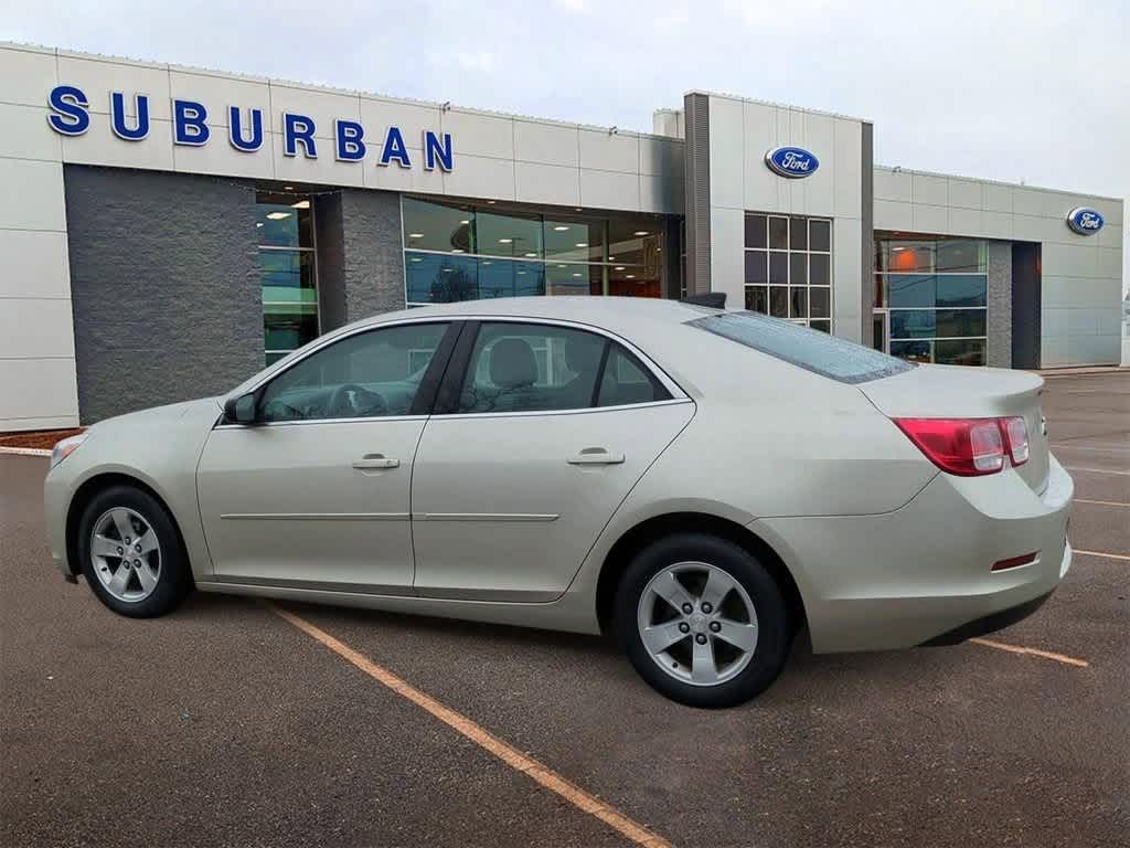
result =
[[905,360],[760,312],[715,312],[687,325],[842,383],[863,383],[914,367]]

